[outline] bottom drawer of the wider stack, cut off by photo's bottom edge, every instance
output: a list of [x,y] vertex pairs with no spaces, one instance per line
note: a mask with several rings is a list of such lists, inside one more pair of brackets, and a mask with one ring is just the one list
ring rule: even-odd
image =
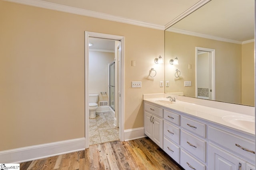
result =
[[193,158],[190,154],[185,152],[184,150],[181,150],[181,157],[180,157],[180,165],[185,170],[205,170],[206,166]]

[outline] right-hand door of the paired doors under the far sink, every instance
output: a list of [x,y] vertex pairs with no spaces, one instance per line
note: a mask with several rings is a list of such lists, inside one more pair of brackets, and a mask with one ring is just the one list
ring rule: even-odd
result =
[[163,149],[163,119],[160,119],[153,115],[153,141]]

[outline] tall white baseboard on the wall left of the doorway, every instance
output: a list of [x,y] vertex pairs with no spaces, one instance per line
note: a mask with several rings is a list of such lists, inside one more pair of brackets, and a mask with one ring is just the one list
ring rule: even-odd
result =
[[71,139],[0,151],[1,163],[20,163],[30,160],[76,152],[85,149],[85,138]]

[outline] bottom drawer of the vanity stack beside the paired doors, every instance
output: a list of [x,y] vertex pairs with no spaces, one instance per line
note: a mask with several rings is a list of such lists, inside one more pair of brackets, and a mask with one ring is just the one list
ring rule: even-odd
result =
[[164,137],[164,151],[172,157],[178,164],[180,163],[180,147]]

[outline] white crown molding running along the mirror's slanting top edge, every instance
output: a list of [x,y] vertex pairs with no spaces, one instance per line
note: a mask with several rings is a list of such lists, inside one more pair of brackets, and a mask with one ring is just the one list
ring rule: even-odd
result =
[[188,16],[189,14],[191,14],[192,12],[194,12],[195,10],[197,10],[198,8],[200,8],[201,6],[203,6],[204,4],[206,4],[210,1],[211,0],[200,0],[199,2],[194,4],[192,7],[188,8],[188,10],[186,10],[185,12],[183,12],[182,14],[180,14],[179,16],[174,18],[172,21],[170,21],[169,23],[164,25],[164,29],[167,29],[168,27],[174,25],[174,23],[182,20],[183,18],[185,18],[186,16]]

